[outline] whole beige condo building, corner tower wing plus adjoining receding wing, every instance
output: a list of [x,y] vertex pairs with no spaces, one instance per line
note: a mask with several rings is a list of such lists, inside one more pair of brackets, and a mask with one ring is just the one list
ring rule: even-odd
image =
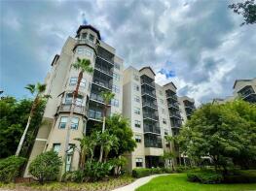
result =
[[[116,55],[115,48],[104,43],[93,26],[81,25],[76,37],[68,37],[60,54],[55,55],[46,77],[46,94],[52,98],[47,101],[24,176],[29,176],[28,166],[38,154],[54,149],[60,157],[65,155],[72,93],[79,75],[72,64],[78,57],[89,59],[94,70],[92,74],[83,74],[74,103],[65,171],[78,169],[79,153],[73,145],[79,147],[79,142],[75,139],[90,134],[95,124],[102,123],[104,102],[100,92],[106,90],[115,94],[107,115],[118,112],[128,117],[137,143],[135,150],[126,155],[128,170],[161,166],[160,157],[170,147],[165,143],[165,136],[179,133],[181,125],[195,110],[194,100],[179,98],[173,82],[157,84],[150,67],[136,70],[130,66],[124,71],[123,59]],[[177,146],[171,147],[177,153]],[[177,155],[175,163],[180,162],[179,158]]]

